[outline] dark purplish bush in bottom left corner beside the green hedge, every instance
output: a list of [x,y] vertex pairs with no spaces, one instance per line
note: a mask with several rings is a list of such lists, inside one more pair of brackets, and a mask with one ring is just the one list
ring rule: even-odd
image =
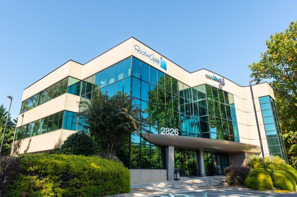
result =
[[0,156],[0,197],[5,196],[8,187],[20,172],[20,158]]

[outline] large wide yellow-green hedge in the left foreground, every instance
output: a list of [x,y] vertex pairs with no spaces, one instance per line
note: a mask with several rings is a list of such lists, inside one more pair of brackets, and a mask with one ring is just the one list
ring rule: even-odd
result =
[[12,197],[94,197],[130,192],[129,170],[121,163],[74,155],[21,156]]

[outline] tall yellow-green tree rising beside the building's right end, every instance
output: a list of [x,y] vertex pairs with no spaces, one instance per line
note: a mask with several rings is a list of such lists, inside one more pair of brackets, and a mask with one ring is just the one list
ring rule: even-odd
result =
[[[297,21],[291,22],[285,32],[276,33],[266,40],[267,51],[261,59],[248,67],[250,77],[260,82],[270,79],[275,93],[282,132],[291,164],[297,158],[296,151],[290,151],[297,143]],[[294,139],[287,137],[295,136]],[[295,165],[297,168],[297,163]]]

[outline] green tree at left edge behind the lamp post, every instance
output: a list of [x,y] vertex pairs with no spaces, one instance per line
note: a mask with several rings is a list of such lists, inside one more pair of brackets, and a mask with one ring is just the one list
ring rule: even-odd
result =
[[[4,108],[3,104],[0,105],[0,141],[2,139],[6,116],[8,112]],[[4,141],[2,145],[1,155],[10,155],[11,145],[14,137],[16,120],[11,120],[10,114],[8,117],[7,127],[4,134]]]

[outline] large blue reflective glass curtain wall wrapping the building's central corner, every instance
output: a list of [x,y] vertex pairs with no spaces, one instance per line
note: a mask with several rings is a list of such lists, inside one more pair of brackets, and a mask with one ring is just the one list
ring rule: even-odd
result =
[[[210,88],[211,98],[207,88]],[[81,101],[91,99],[99,90],[109,96],[116,92],[131,95],[133,104],[141,109],[142,117],[149,122],[144,123],[141,132],[159,134],[161,127],[167,127],[178,129],[179,135],[239,141],[238,132],[235,132],[237,123],[232,118],[236,118],[236,115],[231,114],[231,105],[234,103],[229,97],[232,94],[213,88],[217,94],[223,93],[223,96],[218,97],[221,100],[213,101],[212,88],[207,88],[205,85],[192,88],[132,56],[82,80],[80,95]],[[210,120],[215,125],[220,121],[219,135],[216,136],[210,134],[211,129],[214,129],[210,127],[208,118],[210,113],[207,105],[210,101],[213,111]],[[215,116],[214,102],[219,110],[224,107],[223,115],[220,112]],[[83,122],[81,118],[78,121]],[[81,123],[78,125],[80,129]],[[217,134],[216,130],[213,133]],[[131,135],[129,144],[119,157],[130,168],[165,168],[164,149],[148,143],[136,133]]]

